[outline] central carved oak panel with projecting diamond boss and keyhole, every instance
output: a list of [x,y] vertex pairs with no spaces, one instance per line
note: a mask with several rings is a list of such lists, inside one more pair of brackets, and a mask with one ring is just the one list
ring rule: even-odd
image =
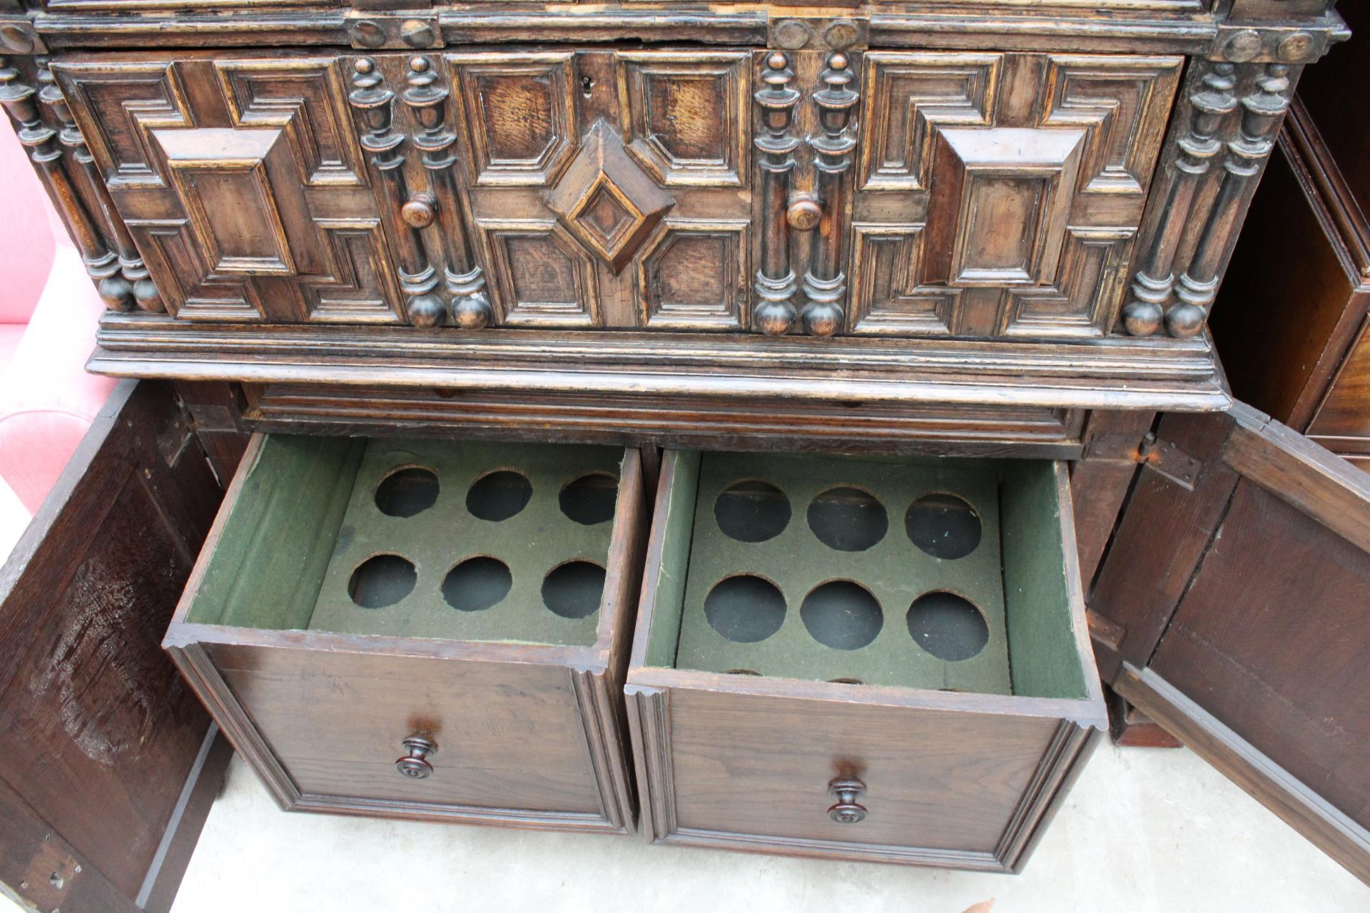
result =
[[752,59],[443,55],[492,323],[747,329]]

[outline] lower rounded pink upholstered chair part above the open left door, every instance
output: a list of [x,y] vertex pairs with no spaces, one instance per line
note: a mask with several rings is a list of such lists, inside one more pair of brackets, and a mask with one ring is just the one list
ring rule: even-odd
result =
[[75,249],[60,245],[38,307],[0,375],[0,478],[37,511],[110,391],[86,374],[104,311]]

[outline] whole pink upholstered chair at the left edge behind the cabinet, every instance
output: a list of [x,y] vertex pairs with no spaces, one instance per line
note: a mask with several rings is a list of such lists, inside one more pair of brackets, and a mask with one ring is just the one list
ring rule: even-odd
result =
[[0,560],[114,389],[85,372],[103,303],[14,133],[0,129]]

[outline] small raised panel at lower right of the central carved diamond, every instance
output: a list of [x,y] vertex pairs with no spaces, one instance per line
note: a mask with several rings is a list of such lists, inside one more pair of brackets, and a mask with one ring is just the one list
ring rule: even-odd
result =
[[673,330],[747,326],[747,220],[667,219],[638,261],[644,323]]

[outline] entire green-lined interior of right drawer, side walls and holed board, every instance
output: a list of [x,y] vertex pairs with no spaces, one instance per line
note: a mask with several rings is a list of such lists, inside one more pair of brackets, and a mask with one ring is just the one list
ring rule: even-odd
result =
[[[797,454],[681,453],[667,502],[648,664],[707,672],[749,669],[773,678],[859,679],[871,684],[958,689],[989,694],[1084,698],[1084,673],[1070,617],[1060,504],[1049,461],[852,460]],[[763,480],[789,498],[784,532],[766,542],[723,535],[717,496],[738,480]],[[874,494],[885,506],[885,537],[866,552],[825,546],[807,523],[812,496],[836,486]],[[919,496],[951,493],[981,519],[981,542],[960,558],[934,558],[904,532],[904,511]],[[678,509],[684,505],[684,509]],[[686,515],[689,519],[686,520]],[[692,528],[690,528],[692,527]],[[689,549],[681,542],[689,538]],[[688,552],[688,553],[686,553]],[[680,575],[685,574],[684,586]],[[751,572],[780,587],[788,609],[780,630],[755,643],[718,634],[704,600],[722,578]],[[817,584],[855,580],[878,600],[884,624],[867,646],[823,646],[800,617]],[[985,649],[969,660],[927,654],[908,634],[910,602],[932,590],[959,593],[981,608]],[[673,652],[674,647],[674,652]]]

